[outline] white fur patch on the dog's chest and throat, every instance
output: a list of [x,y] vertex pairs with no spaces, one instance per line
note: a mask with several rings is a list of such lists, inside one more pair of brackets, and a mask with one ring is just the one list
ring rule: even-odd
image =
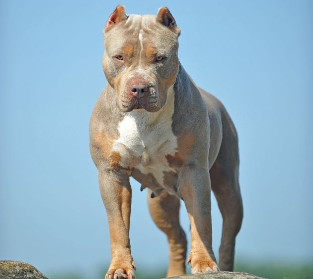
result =
[[135,167],[143,174],[151,173],[163,187],[164,171],[175,171],[166,159],[166,155],[174,156],[177,149],[177,137],[172,131],[173,113],[172,86],[160,111],[134,110],[127,113],[119,123],[120,136],[113,143],[113,149],[121,155],[122,167]]

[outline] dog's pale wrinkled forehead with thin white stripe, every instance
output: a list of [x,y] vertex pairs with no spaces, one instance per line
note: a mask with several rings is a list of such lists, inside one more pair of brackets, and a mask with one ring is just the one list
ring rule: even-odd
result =
[[177,36],[156,21],[154,15],[129,15],[105,35],[107,51],[123,49],[125,45],[153,45],[156,49],[170,50],[177,44]]

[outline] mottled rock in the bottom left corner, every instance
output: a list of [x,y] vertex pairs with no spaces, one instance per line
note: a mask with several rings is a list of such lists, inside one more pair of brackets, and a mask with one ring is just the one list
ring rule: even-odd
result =
[[48,279],[26,262],[0,260],[0,279]]

